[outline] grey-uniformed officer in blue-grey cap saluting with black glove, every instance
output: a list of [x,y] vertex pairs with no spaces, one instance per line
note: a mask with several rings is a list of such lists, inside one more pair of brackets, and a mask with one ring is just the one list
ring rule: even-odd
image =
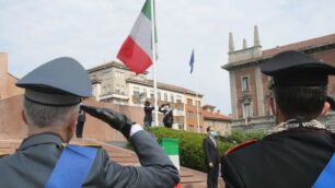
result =
[[[51,60],[16,85],[25,89],[22,117],[28,136],[14,154],[0,158],[1,187],[171,188],[178,183],[177,168],[140,125],[113,109],[81,105],[92,85],[77,60]],[[109,161],[102,148],[68,144],[80,108],[123,133],[141,166]]]

